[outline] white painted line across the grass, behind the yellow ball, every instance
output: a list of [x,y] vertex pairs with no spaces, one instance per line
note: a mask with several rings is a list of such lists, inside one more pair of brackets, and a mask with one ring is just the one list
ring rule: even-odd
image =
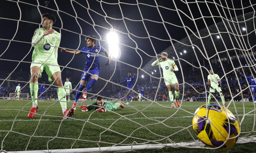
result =
[[[239,114],[238,116],[243,116],[243,114]],[[246,116],[254,116],[254,114],[248,114]],[[179,116],[179,117],[171,117],[170,119],[172,118],[192,118],[193,116]],[[149,119],[166,119],[167,117],[149,117]],[[136,120],[136,119],[148,119],[148,118],[145,118],[145,117],[137,117],[137,118],[130,118],[131,120]],[[68,121],[71,121],[71,119],[69,119]],[[87,119],[83,119],[84,121],[87,121]],[[106,120],[117,120],[117,119],[114,119],[114,118],[110,118],[110,119],[98,119],[98,118],[94,118],[94,119],[89,119],[89,120],[101,120],[101,121],[106,121]],[[127,119],[120,119],[120,120],[127,120]],[[13,122],[14,120],[0,120],[0,122]],[[54,120],[54,119],[31,119],[31,120],[22,120],[22,119],[18,119],[18,120],[15,120],[15,122],[23,122],[23,121],[62,121],[62,119],[59,119],[59,120]],[[72,121],[76,121],[76,120],[72,120]]]

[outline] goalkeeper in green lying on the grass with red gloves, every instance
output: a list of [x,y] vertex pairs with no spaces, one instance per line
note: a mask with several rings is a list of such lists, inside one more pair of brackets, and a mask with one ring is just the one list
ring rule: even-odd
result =
[[101,96],[98,96],[97,101],[95,103],[92,103],[92,105],[80,106],[80,108],[82,108],[82,112],[90,111],[92,109],[97,110],[98,112],[110,112],[116,110],[119,107],[124,108],[124,105],[120,101],[113,104],[110,101],[104,101],[103,97]]

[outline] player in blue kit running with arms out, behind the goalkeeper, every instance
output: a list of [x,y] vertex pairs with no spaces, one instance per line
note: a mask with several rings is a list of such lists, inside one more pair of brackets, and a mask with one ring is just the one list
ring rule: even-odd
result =
[[[72,55],[79,55],[84,54],[86,57],[86,64],[84,66],[84,72],[81,77],[81,83],[78,87],[78,91],[76,93],[75,103],[73,105],[73,108],[76,110],[76,105],[78,102],[79,97],[82,94],[83,88],[85,87],[86,83],[91,78],[91,81],[88,82],[85,90],[83,98],[86,99],[86,92],[89,90],[98,80],[99,77],[99,70],[100,70],[100,63],[99,63],[99,54],[101,52],[105,53],[106,57],[108,58],[108,61],[105,63],[105,65],[110,64],[110,58],[108,51],[103,48],[102,46],[95,45],[97,40],[96,36],[87,36],[85,40],[87,41],[87,46],[83,47],[80,51],[68,51],[64,48],[60,50],[60,52],[69,53]],[[90,74],[89,74],[90,73]]]

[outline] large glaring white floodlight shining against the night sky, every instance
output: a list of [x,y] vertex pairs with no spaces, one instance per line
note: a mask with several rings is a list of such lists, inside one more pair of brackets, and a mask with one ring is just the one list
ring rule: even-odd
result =
[[108,39],[108,44],[109,44],[109,56],[111,58],[116,59],[119,56],[119,47],[118,47],[118,43],[119,43],[119,39],[118,39],[118,35],[114,32],[110,32],[107,35],[107,39]]

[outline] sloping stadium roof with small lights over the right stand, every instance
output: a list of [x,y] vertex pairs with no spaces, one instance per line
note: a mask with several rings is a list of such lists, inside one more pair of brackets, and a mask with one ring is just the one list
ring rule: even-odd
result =
[[[180,65],[178,61],[182,66],[187,65],[188,62],[199,66],[199,63],[203,65],[204,61],[209,63],[207,59],[221,59],[228,55],[236,55],[236,53],[244,54],[244,51],[252,52],[252,48],[256,44],[254,18],[254,12],[228,20],[222,18],[224,22],[221,21],[202,29],[199,31],[199,34],[198,32],[192,33],[189,37],[176,41],[173,46],[168,47],[163,50],[163,52],[167,52],[168,58],[175,60],[178,67]],[[246,30],[244,31],[242,28],[246,28]],[[220,38],[218,39],[217,36],[220,36]],[[186,50],[186,54],[184,54],[184,50]],[[180,52],[182,52],[183,55],[180,55]],[[160,56],[158,56],[158,58],[159,57]],[[175,59],[173,59],[173,57]],[[138,76],[141,77],[141,75],[144,75],[146,77],[149,74],[152,75],[151,72],[154,70],[158,70],[156,73],[159,74],[158,67],[151,66],[151,63],[156,59],[157,58],[153,58],[148,62],[142,68],[144,71],[139,71]]]

